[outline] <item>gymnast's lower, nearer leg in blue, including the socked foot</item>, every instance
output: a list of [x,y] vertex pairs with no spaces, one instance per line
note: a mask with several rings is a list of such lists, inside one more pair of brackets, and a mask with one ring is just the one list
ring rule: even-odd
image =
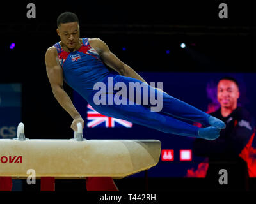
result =
[[[89,102],[89,101],[88,101]],[[216,127],[198,128],[186,122],[182,122],[161,112],[152,112],[143,105],[90,105],[102,115],[127,120],[154,128],[164,133],[172,133],[181,136],[190,136],[215,140],[220,136],[220,129]]]

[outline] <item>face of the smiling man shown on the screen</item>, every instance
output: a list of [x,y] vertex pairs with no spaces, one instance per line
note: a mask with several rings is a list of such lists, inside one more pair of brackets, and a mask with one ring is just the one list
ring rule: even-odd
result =
[[239,89],[236,83],[231,80],[220,80],[217,89],[217,98],[221,107],[236,109],[239,98]]

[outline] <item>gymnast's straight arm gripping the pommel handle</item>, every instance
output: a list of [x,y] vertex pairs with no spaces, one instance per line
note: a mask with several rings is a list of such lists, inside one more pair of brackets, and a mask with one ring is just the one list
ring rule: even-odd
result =
[[67,92],[63,89],[63,71],[58,62],[58,53],[55,47],[50,47],[45,54],[45,65],[47,76],[52,87],[52,93],[58,103],[70,114],[74,119],[71,128],[77,131],[76,124],[82,123],[84,127],[84,120],[81,115],[77,112]]

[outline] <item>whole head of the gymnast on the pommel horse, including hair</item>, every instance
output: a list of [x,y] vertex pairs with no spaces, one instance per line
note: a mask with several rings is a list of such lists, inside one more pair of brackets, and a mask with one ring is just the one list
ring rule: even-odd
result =
[[57,18],[57,27],[57,34],[66,47],[74,49],[79,45],[79,21],[75,13],[61,13]]

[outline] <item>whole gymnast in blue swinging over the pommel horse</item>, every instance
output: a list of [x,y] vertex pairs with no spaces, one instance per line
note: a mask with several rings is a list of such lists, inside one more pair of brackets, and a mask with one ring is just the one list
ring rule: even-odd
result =
[[[215,140],[220,136],[220,129],[225,128],[224,122],[188,105],[188,103],[173,98],[159,88],[148,85],[138,73],[120,61],[109,50],[106,43],[99,38],[80,38],[79,20],[76,14],[62,13],[57,18],[57,26],[57,33],[61,41],[47,49],[45,64],[54,97],[74,119],[71,125],[74,131],[77,131],[76,124],[78,122],[81,122],[84,127],[84,120],[64,91],[63,80],[102,115],[127,120],[175,135],[206,140]],[[107,66],[117,73],[111,73]],[[130,103],[138,96],[137,94],[135,97],[130,96],[128,90],[127,96],[129,97],[123,98],[127,101],[126,104],[109,103],[111,97],[118,96],[118,91],[113,89],[118,82],[122,82],[127,87],[129,87],[129,83],[146,87],[147,89],[143,89],[140,93],[144,100],[145,96],[149,97],[152,93],[155,96],[161,96],[163,103],[161,111],[152,111],[150,103]],[[106,84],[107,88],[101,92],[101,97],[107,99],[105,104],[95,101],[95,95],[99,93],[99,87],[95,89],[97,83]],[[179,119],[200,122],[205,128],[198,128]]]

